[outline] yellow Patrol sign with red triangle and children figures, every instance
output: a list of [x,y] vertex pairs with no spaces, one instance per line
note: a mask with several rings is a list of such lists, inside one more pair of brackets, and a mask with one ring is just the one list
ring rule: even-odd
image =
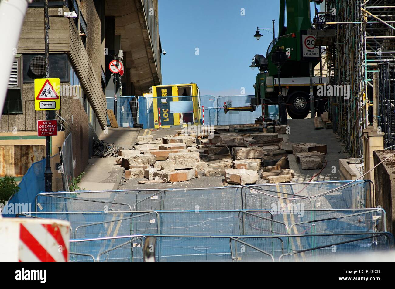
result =
[[34,79],[34,108],[36,110],[60,109],[60,79]]

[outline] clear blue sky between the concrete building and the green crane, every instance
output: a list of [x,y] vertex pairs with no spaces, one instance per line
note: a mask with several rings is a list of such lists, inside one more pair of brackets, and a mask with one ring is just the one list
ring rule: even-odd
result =
[[[163,84],[197,83],[201,95],[254,94],[258,69],[249,65],[266,54],[271,30],[253,37],[256,27],[271,28],[278,0],[159,0]],[[314,4],[313,4],[314,5]],[[314,6],[312,6],[314,7]],[[241,9],[245,16],[241,16]],[[199,48],[199,55],[195,54]]]

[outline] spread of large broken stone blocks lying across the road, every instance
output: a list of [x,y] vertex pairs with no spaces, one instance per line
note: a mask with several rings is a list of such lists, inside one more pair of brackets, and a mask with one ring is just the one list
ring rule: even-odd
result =
[[[138,136],[134,150],[119,150],[117,164],[125,178],[145,179],[139,183],[173,183],[204,177],[224,177],[224,184],[249,185],[289,183],[294,175],[288,154],[302,169],[322,168],[326,145],[284,142],[287,125],[271,131],[235,133],[220,127],[206,131],[154,138]],[[220,132],[219,132],[220,131]]]

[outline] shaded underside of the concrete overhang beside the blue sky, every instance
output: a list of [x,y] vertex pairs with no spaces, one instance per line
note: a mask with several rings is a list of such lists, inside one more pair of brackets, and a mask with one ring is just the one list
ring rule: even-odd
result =
[[[115,17],[115,34],[121,36],[125,54],[123,62],[130,68],[130,81],[134,83],[136,93],[148,92],[151,86],[161,84],[160,63],[155,61],[141,0],[106,0],[105,16]],[[156,53],[160,54],[160,51]]]

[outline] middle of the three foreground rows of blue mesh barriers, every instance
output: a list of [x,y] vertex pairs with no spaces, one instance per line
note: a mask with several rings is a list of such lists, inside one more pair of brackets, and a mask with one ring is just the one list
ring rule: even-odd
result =
[[138,234],[254,236],[387,231],[386,212],[381,208],[47,212],[17,216],[68,221],[71,239]]

